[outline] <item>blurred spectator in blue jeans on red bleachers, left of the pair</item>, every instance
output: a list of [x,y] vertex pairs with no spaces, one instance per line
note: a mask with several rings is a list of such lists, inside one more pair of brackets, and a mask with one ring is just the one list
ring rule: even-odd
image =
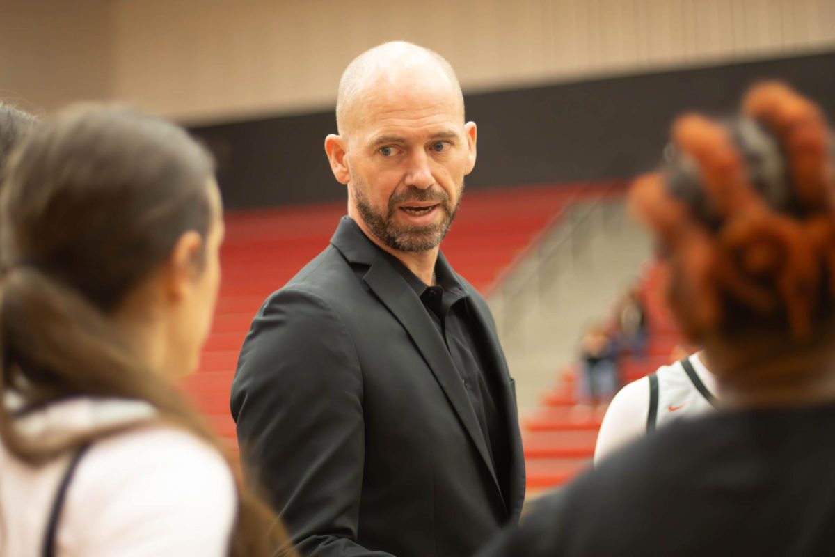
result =
[[576,384],[578,404],[571,418],[582,422],[590,418],[592,411],[602,415],[618,387],[615,343],[602,322],[593,323],[580,338]]

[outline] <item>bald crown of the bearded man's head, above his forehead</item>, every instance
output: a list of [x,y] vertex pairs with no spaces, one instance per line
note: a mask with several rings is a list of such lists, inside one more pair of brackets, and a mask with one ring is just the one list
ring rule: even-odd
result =
[[416,78],[446,81],[450,93],[460,103],[463,121],[464,99],[452,65],[433,50],[396,41],[383,43],[360,54],[342,73],[337,96],[339,134],[345,135],[350,129],[352,119],[357,117],[367,94],[376,88],[400,83],[403,79]]

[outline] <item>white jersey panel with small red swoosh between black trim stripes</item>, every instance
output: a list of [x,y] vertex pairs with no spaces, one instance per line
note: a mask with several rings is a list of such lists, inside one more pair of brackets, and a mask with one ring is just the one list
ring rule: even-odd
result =
[[646,419],[647,432],[678,418],[696,416],[716,408],[716,397],[696,373],[696,365],[701,365],[697,357],[691,354],[681,362],[660,367],[648,376],[650,408]]

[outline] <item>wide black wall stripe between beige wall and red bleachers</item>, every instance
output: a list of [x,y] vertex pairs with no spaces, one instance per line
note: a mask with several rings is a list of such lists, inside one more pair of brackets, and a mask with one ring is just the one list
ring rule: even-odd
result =
[[[677,114],[735,111],[741,93],[762,78],[787,80],[832,117],[832,68],[835,51],[467,95],[467,118],[478,124],[478,162],[467,185],[630,178],[658,164]],[[215,152],[228,207],[345,199],[322,147],[336,131],[331,110],[191,131]]]

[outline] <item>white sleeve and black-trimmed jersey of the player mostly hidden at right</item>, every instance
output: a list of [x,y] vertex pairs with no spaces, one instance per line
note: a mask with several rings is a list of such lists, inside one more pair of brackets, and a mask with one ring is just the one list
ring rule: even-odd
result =
[[[716,376],[713,375],[698,357],[698,353],[687,358],[696,375],[705,384],[707,390],[716,397]],[[663,427],[679,418],[697,416],[710,412],[711,403],[696,389],[687,377],[681,362],[661,366],[655,372],[658,377],[658,413],[656,427]],[[626,443],[646,435],[647,415],[650,412],[650,380],[648,377],[630,382],[612,399],[595,446],[595,463],[600,462],[610,453]]]

